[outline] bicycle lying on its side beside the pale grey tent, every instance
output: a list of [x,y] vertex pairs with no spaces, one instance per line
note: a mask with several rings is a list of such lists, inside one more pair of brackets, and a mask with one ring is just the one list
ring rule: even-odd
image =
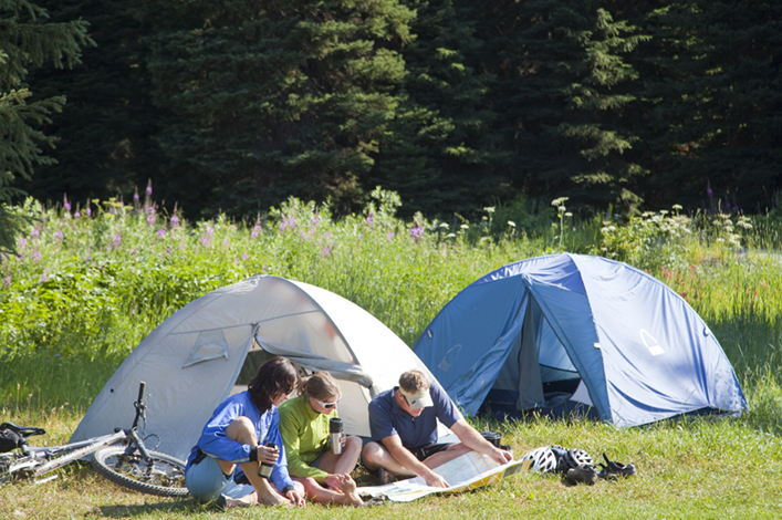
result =
[[0,486],[24,478],[32,478],[37,483],[48,482],[56,478],[56,475],[41,477],[92,455],[95,470],[119,486],[163,497],[186,496],[185,462],[147,449],[144,441],[157,436],[152,434],[142,438],[143,434],[138,433],[139,420],[146,424],[145,387],[146,383],[142,382],[138,401],[134,403],[136,418],[131,429],[115,428],[111,435],[63,446],[38,447],[28,445],[27,439],[45,434],[44,429],[12,423],[0,424],[3,441],[9,445],[7,449],[11,448],[9,453],[0,454]]

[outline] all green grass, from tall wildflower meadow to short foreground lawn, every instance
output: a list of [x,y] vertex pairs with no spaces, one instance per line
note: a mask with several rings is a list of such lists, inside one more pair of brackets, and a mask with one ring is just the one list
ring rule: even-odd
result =
[[[779,226],[739,216],[648,214],[542,228],[395,218],[393,197],[340,220],[291,200],[259,222],[176,222],[149,208],[93,207],[91,218],[29,201],[39,218],[21,258],[0,259],[0,412],[69,439],[124,357],[173,312],[252,274],[301,280],[363,306],[413,345],[456,293],[503,264],[560,251],[644,269],[688,300],[733,364],[750,410],[616,429],[591,422],[493,423],[517,457],[559,444],[638,476],[593,487],[522,474],[484,489],[366,509],[310,506],[218,512],[161,499],[71,465],[54,481],[0,488],[0,519],[25,518],[782,518],[782,264]],[[491,209],[491,208],[490,208]],[[517,217],[514,217],[517,218]],[[519,222],[521,219],[517,218]],[[539,222],[540,218],[530,219]],[[513,223],[513,226],[511,226]],[[771,250],[772,252],[769,252]],[[152,431],[150,431],[152,433]],[[359,485],[375,485],[358,471]]]

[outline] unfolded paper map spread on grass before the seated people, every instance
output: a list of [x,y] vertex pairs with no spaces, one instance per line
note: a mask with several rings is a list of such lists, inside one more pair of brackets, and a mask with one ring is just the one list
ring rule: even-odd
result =
[[450,488],[432,488],[420,477],[399,480],[385,486],[361,487],[356,491],[362,496],[386,497],[395,502],[409,502],[431,493],[452,493],[480,488],[498,480],[528,470],[529,460],[513,460],[500,466],[488,455],[469,451],[435,468]]

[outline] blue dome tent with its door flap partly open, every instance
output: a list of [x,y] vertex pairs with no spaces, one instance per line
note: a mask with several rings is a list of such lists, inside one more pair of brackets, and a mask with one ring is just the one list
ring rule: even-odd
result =
[[625,263],[562,253],[500,268],[457,294],[414,349],[467,415],[590,410],[616,426],[748,409],[706,323]]

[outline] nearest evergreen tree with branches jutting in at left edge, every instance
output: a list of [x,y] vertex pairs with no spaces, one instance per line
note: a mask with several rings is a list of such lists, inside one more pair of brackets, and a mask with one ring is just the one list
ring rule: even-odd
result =
[[[28,0],[0,0],[0,206],[23,193],[17,178],[29,179],[34,165],[49,164],[40,146],[53,146],[38,126],[65,104],[62,96],[32,101],[28,70],[44,64],[58,67],[79,63],[81,48],[92,44],[86,22],[46,21],[46,11]],[[15,252],[19,217],[0,211],[0,251]]]

